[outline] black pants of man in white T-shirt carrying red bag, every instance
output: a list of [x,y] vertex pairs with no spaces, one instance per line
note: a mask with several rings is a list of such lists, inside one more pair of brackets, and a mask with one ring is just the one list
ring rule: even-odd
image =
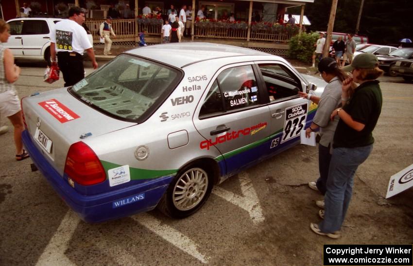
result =
[[62,71],[65,87],[72,86],[85,78],[83,58],[76,52],[58,52],[57,64]]

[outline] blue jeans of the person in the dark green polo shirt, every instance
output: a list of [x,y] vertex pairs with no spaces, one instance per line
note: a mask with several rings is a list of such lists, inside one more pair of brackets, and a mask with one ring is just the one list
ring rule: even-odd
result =
[[318,225],[323,233],[340,230],[353,192],[357,168],[370,155],[373,144],[357,148],[336,148],[328,170],[327,192],[324,196],[324,220]]

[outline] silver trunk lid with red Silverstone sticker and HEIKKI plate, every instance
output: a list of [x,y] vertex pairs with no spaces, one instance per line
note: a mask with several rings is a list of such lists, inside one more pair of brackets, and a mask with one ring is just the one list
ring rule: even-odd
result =
[[33,142],[62,175],[71,144],[136,125],[94,110],[67,88],[26,97],[22,109]]

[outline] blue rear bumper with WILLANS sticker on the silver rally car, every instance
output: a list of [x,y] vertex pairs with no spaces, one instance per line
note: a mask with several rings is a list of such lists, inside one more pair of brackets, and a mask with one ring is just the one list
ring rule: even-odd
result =
[[34,164],[52,188],[86,222],[102,222],[154,209],[174,177],[163,176],[119,190],[82,195],[69,185],[66,175],[61,176],[44,158],[27,130],[23,131],[22,140]]

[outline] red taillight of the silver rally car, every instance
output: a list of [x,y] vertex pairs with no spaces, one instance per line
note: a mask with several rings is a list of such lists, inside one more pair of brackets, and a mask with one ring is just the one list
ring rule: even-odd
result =
[[66,157],[65,173],[83,186],[95,185],[106,180],[101,161],[83,141],[70,146]]

